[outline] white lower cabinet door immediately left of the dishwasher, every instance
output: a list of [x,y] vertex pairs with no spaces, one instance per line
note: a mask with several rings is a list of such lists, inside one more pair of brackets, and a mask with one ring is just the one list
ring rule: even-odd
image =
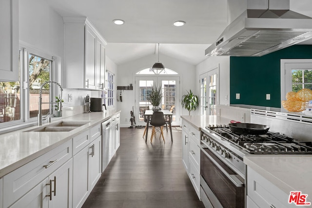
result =
[[[101,177],[101,149],[102,149],[102,138],[98,136],[97,139],[92,141],[89,145],[89,181],[90,181],[90,189],[92,190],[98,182],[98,179]],[[91,147],[91,148],[90,148]]]

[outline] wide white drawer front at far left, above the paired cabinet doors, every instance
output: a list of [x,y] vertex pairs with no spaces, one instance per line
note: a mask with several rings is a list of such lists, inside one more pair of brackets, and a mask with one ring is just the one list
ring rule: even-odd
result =
[[72,157],[72,140],[3,176],[3,207],[8,207]]

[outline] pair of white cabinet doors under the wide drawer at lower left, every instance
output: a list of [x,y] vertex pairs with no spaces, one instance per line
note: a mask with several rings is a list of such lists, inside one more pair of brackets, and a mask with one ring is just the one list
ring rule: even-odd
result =
[[73,160],[45,178],[10,208],[71,208]]

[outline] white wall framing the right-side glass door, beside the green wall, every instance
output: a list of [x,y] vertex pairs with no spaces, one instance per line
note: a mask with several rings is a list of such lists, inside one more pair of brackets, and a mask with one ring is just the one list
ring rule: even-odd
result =
[[[230,57],[208,57],[196,66],[196,80],[199,76],[219,65],[219,104],[230,105]],[[199,82],[196,81],[196,93],[199,95]],[[226,96],[228,99],[226,99]],[[197,114],[200,111],[196,110]]]

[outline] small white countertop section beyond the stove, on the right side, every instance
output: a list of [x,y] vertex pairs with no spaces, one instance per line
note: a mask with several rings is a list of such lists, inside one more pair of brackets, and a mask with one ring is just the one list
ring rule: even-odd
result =
[[208,125],[226,125],[230,123],[229,118],[217,115],[181,115],[181,118],[198,131],[205,129]]

